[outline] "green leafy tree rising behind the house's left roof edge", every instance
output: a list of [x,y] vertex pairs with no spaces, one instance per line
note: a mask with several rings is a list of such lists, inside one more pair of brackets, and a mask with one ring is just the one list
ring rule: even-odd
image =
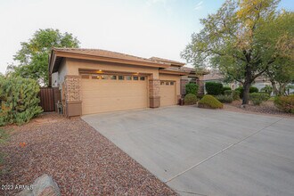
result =
[[48,86],[48,55],[52,47],[78,47],[79,41],[58,29],[39,29],[28,42],[20,45],[20,51],[13,58],[17,64],[8,65],[7,75],[33,78],[40,86]]

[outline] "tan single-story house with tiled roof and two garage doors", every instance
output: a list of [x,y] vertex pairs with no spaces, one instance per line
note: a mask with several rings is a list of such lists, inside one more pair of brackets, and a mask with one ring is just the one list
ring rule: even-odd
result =
[[53,48],[49,86],[59,87],[67,117],[176,105],[184,63],[99,49]]

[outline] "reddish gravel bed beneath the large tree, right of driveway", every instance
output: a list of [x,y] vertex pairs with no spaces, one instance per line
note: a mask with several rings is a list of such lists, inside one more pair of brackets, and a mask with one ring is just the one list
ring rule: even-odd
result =
[[271,116],[282,116],[282,117],[290,117],[293,118],[294,115],[290,113],[283,112],[281,110],[278,110],[274,106],[274,102],[263,102],[260,105],[253,105],[249,103],[246,105],[245,108],[241,109],[241,101],[233,101],[232,103],[226,103],[225,104],[225,110],[231,110],[231,111],[238,111],[238,112],[244,112],[244,113],[260,113],[265,115],[271,115]]

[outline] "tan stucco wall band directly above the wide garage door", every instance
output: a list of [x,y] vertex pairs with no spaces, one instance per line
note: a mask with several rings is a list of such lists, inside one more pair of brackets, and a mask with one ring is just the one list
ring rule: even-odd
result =
[[119,64],[109,64],[97,61],[85,61],[76,59],[66,60],[67,75],[78,75],[78,69],[102,69],[110,71],[127,71],[127,72],[139,72],[151,74],[151,78],[159,78],[158,68],[140,67],[133,65],[119,65]]

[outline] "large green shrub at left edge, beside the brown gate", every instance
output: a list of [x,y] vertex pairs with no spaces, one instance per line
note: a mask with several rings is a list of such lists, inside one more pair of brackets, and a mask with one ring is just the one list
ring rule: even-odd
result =
[[29,78],[0,78],[0,126],[21,125],[43,110],[37,97],[37,82]]

